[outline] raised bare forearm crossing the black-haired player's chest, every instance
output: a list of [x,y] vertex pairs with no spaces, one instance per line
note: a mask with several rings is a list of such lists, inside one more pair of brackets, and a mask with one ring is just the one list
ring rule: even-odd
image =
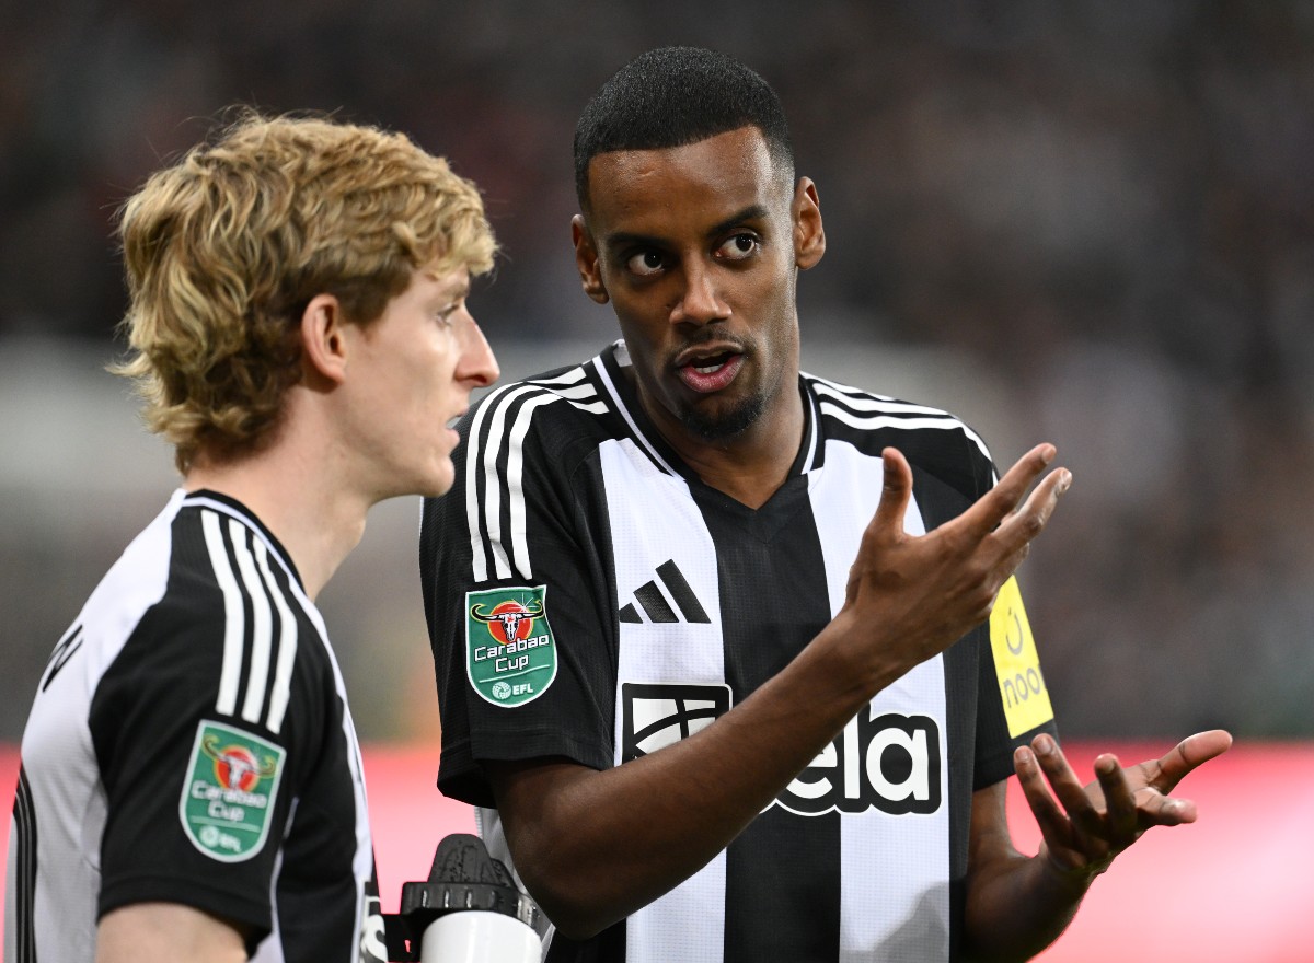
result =
[[837,692],[836,669],[809,648],[711,727],[616,769],[490,767],[516,867],[558,929],[597,933],[725,849],[870,700]]

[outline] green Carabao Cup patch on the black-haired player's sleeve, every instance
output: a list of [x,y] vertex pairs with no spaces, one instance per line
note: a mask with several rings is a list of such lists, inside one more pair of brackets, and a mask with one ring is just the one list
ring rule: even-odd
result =
[[465,594],[465,674],[485,702],[524,705],[557,678],[547,594],[545,585]]

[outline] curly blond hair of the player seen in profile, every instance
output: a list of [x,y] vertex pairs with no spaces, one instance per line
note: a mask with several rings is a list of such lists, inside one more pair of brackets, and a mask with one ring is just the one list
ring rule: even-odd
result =
[[417,269],[482,275],[497,251],[476,185],[403,134],[252,110],[151,175],[118,235],[134,355],[110,370],[184,474],[271,436],[313,297],[369,325]]

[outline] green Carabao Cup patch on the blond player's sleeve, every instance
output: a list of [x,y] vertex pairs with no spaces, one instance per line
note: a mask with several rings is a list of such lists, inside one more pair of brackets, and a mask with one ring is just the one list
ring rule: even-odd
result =
[[269,834],[284,755],[283,746],[259,736],[201,720],[177,807],[192,845],[225,863],[259,853]]

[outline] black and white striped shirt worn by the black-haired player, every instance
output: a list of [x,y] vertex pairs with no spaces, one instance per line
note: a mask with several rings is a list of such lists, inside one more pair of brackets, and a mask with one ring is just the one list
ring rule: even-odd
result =
[[[661,439],[625,365],[618,343],[490,393],[463,426],[456,487],[424,507],[439,784],[484,807],[507,861],[481,763],[602,770],[745,699],[840,610],[884,447],[913,466],[913,533],[996,481],[958,419],[804,374],[798,459],[750,510]],[[971,794],[1053,728],[1016,582],[996,616],[882,691],[703,870],[595,939],[552,939],[548,959],[953,959]]]

